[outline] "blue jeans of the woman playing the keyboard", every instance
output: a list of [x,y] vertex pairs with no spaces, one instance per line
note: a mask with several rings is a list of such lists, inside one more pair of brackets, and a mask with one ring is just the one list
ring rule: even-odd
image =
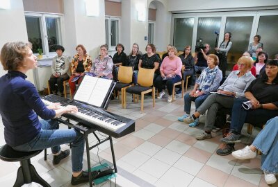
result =
[[57,153],[60,151],[60,144],[72,143],[72,172],[80,172],[83,166],[85,144],[83,135],[74,129],[59,130],[58,121],[40,120],[40,123],[42,129],[35,138],[13,149],[28,152],[51,148],[52,153]]

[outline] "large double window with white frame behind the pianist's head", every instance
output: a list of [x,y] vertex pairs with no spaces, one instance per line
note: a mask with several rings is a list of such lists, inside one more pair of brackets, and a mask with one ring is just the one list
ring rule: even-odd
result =
[[62,44],[60,16],[40,13],[26,13],[28,41],[33,44],[33,53],[42,48],[44,57],[54,56],[55,46]]

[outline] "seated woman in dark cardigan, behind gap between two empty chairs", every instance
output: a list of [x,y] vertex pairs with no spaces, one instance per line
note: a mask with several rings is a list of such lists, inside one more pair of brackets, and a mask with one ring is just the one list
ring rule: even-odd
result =
[[133,67],[133,83],[137,84],[137,77],[138,77],[138,64],[141,55],[139,54],[139,46],[138,44],[134,43],[132,45],[131,53],[127,57],[126,66]]

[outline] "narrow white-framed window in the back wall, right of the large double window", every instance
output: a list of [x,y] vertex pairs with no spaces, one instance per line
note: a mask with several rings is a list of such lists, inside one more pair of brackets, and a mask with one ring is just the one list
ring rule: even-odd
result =
[[115,47],[120,41],[120,19],[116,17],[106,17],[105,19],[105,32],[106,44],[109,50],[115,50]]

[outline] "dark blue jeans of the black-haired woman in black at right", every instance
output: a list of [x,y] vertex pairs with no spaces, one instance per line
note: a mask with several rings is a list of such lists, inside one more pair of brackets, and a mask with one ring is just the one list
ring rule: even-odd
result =
[[246,98],[236,98],[231,112],[230,132],[240,134],[244,123],[264,125],[269,119],[278,116],[278,110],[270,109],[244,109],[242,104]]

